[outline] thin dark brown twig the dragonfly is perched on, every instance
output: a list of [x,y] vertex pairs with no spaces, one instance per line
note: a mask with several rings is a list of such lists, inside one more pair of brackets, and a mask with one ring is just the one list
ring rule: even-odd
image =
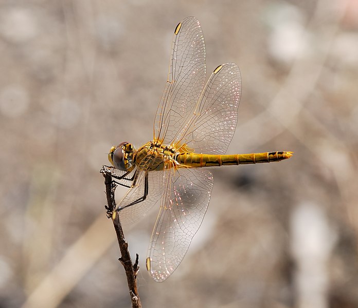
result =
[[112,180],[111,171],[108,170],[105,166],[101,169],[101,174],[104,177],[104,185],[105,185],[105,195],[107,198],[107,205],[105,206],[107,210],[107,215],[109,218],[112,218],[114,228],[116,230],[119,249],[121,253],[121,257],[118,259],[126,271],[127,282],[129,287],[129,293],[131,296],[132,307],[133,308],[141,308],[141,302],[138,294],[137,288],[137,273],[139,270],[138,266],[138,254],[136,255],[136,261],[133,265],[131,255],[128,251],[128,243],[124,239],[122,225],[120,224],[119,215],[115,211],[116,208],[116,201],[114,198],[114,191],[117,185]]

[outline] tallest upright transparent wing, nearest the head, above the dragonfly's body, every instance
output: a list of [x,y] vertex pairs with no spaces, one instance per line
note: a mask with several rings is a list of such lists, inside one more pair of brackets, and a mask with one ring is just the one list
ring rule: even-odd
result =
[[170,144],[192,115],[205,82],[205,43],[199,21],[185,18],[175,28],[168,81],[154,121],[154,139]]

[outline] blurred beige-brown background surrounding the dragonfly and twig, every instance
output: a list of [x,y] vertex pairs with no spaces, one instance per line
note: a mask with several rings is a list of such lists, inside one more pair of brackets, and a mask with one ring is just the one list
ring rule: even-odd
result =
[[[164,283],[155,214],[126,230],[144,307],[358,307],[358,2],[0,2],[0,307],[129,307],[99,174],[152,139],[172,33],[201,22],[207,71],[240,66],[229,153],[204,222]],[[126,192],[118,188],[117,200]]]

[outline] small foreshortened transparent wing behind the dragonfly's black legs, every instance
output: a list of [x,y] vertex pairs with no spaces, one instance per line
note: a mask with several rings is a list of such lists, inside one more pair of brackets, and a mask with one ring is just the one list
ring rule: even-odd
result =
[[137,171],[138,178],[134,186],[132,186],[127,194],[118,203],[119,210],[118,215],[120,222],[123,226],[127,226],[137,222],[140,218],[144,217],[148,211],[157,203],[159,203],[160,197],[163,191],[163,173],[164,171],[152,171],[148,172],[148,196],[147,198],[129,207],[126,205],[138,200],[138,198],[144,196],[145,189],[145,171]]

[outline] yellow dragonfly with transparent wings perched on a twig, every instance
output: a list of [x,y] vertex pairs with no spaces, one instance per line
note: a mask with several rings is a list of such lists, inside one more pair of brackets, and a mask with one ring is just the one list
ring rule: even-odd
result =
[[157,282],[175,271],[203,221],[213,186],[209,167],[276,162],[293,153],[225,155],[238,121],[240,70],[219,65],[205,83],[205,56],[201,25],[187,17],[174,30],[153,139],[138,149],[121,142],[108,155],[116,183],[129,188],[114,212],[122,224],[159,206],[146,259]]

